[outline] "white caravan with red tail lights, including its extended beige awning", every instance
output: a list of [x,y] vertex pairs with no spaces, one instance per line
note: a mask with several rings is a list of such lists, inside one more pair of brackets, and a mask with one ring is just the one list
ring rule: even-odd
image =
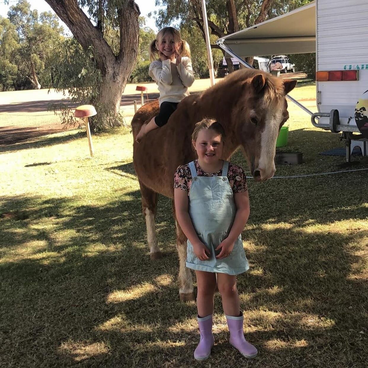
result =
[[[312,124],[346,139],[368,156],[368,1],[316,0],[216,41],[233,57],[316,53]],[[353,134],[353,133],[360,134]]]

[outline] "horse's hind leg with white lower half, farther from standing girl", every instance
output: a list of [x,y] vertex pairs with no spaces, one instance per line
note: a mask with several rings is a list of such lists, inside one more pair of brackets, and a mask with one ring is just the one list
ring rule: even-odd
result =
[[157,209],[158,193],[146,187],[140,180],[139,187],[141,187],[142,195],[142,209],[146,219],[147,241],[149,245],[149,254],[151,259],[161,258],[162,254],[157,243],[155,215]]

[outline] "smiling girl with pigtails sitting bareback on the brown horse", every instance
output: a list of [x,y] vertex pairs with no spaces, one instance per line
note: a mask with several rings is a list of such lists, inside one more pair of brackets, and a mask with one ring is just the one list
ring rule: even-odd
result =
[[189,45],[181,39],[177,29],[161,29],[151,43],[149,58],[152,61],[149,75],[156,81],[160,92],[160,112],[142,126],[135,138],[138,143],[149,131],[167,123],[178,103],[189,96],[188,87],[194,82]]

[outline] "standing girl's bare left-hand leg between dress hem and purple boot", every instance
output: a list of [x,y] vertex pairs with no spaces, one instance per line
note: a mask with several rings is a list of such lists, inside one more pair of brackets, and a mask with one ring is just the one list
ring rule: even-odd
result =
[[205,317],[213,313],[213,295],[216,289],[216,275],[212,272],[195,271],[197,276],[198,316]]

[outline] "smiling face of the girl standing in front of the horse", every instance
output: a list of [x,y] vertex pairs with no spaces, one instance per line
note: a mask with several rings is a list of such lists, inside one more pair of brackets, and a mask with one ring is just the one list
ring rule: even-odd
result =
[[216,164],[222,155],[224,143],[221,135],[212,129],[201,129],[197,139],[192,142],[198,161],[208,165]]

